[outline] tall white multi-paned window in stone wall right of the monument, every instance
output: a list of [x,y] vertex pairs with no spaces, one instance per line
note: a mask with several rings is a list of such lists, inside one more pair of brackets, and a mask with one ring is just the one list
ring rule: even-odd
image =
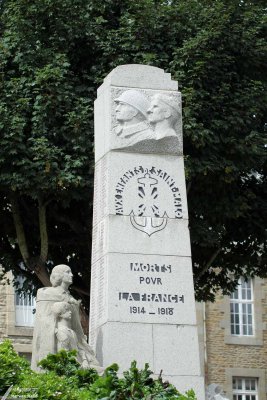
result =
[[231,334],[253,336],[253,314],[252,279],[240,278],[230,298]]

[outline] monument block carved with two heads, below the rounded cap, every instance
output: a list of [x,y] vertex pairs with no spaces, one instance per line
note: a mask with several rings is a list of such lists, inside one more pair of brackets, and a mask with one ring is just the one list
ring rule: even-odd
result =
[[182,154],[180,93],[107,88],[95,101],[95,113],[96,161],[110,150]]

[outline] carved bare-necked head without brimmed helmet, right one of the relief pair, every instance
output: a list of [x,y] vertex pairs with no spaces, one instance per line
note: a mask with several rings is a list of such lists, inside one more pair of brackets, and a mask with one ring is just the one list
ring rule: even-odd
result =
[[176,136],[175,124],[181,113],[177,99],[165,94],[156,94],[152,97],[147,110],[148,121],[155,128],[156,138]]

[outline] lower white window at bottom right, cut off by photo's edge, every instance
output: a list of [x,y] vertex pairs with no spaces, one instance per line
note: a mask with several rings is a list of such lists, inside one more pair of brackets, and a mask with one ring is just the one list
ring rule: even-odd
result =
[[233,400],[258,400],[258,379],[233,377]]

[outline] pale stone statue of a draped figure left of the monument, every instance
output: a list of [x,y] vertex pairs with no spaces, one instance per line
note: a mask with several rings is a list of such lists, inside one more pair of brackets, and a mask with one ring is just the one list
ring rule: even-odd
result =
[[72,278],[68,265],[57,265],[50,276],[52,287],[37,292],[31,365],[35,371],[40,371],[40,360],[60,349],[77,350],[77,361],[83,368],[102,371],[82,330],[80,302],[68,290]]

